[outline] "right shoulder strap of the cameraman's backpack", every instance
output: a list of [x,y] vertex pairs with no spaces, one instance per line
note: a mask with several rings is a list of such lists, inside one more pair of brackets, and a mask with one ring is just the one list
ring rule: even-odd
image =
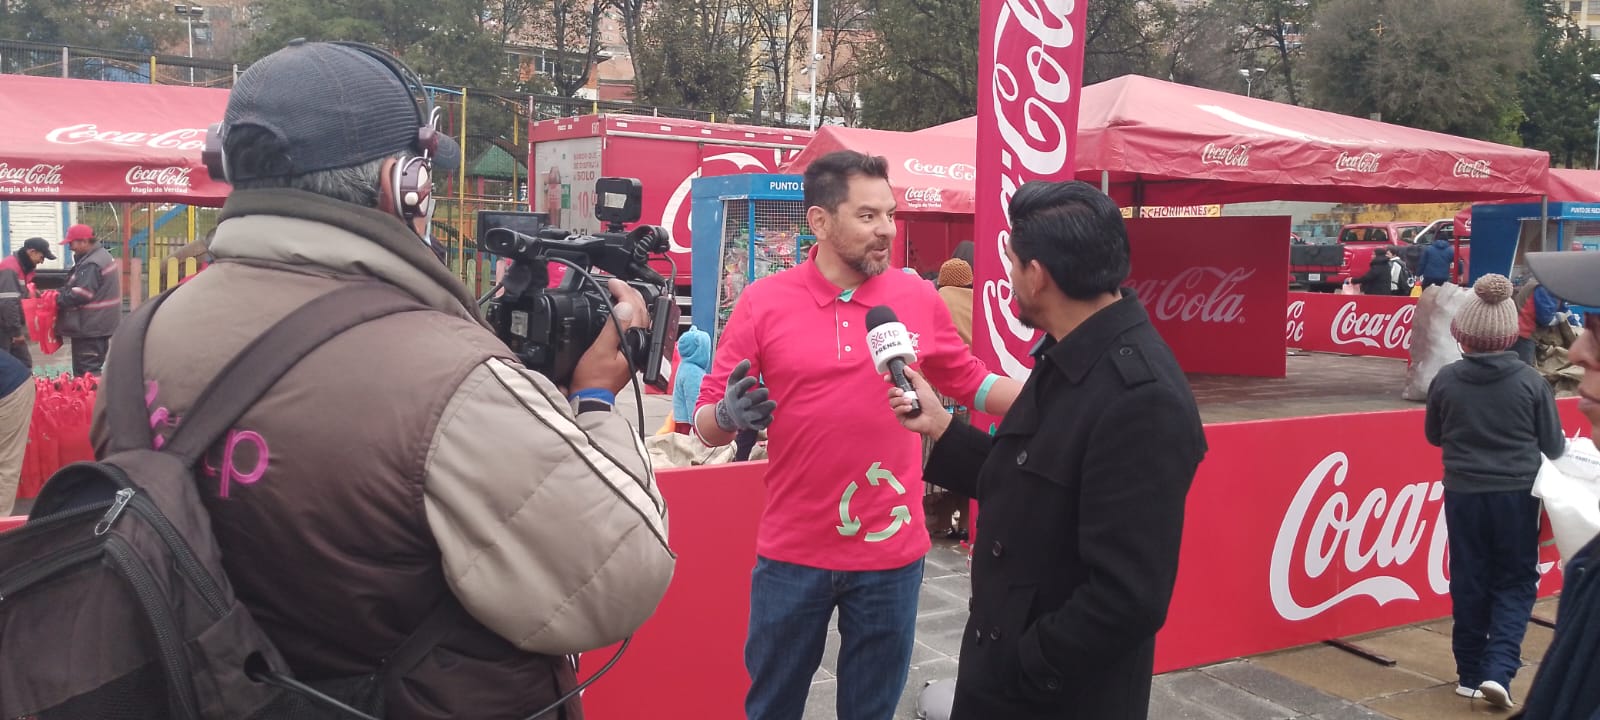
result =
[[379,283],[350,285],[306,302],[229,360],[200,392],[162,451],[178,456],[184,466],[198,462],[256,400],[323,342],[381,317],[426,309]]

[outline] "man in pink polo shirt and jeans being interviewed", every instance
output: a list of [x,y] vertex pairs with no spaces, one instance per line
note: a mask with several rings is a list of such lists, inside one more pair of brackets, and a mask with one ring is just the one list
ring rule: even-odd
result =
[[882,157],[818,158],[805,171],[805,203],[818,243],[806,262],[739,294],[694,426],[707,445],[768,432],[746,715],[800,718],[837,606],[838,718],[890,720],[906,688],[930,541],[922,442],[883,408],[867,310],[890,306],[912,334],[914,366],[971,408],[1005,414],[1021,384],[973,357],[931,283],[883,272],[894,192]]

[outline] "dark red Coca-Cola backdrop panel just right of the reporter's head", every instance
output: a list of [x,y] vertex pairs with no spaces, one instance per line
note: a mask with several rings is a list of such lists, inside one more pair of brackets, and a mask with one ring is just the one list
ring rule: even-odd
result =
[[1128,286],[1189,373],[1283,378],[1288,218],[1128,221]]

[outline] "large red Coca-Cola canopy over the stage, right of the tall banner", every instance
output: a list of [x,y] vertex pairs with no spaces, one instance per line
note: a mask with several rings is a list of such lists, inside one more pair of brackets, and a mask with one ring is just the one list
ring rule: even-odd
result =
[[[1051,131],[1040,123],[1042,147],[1054,146]],[[976,118],[925,133],[971,138],[960,147],[976,152]],[[1123,205],[1422,203],[1541,195],[1549,155],[1123,75],[1083,88],[1077,168],[1096,186],[1104,171]]]

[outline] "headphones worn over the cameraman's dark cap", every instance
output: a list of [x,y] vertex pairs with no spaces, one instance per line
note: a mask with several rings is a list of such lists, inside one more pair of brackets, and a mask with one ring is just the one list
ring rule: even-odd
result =
[[[355,50],[389,69],[400,80],[400,85],[411,94],[416,109],[416,152],[419,155],[402,157],[395,162],[387,182],[379,189],[378,208],[394,213],[406,224],[418,216],[434,214],[434,154],[438,152],[438,120],[443,110],[434,107],[427,86],[414,70],[406,67],[400,58],[366,43],[336,40],[330,45],[341,45]],[[222,123],[211,125],[205,134],[205,149],[200,152],[206,173],[211,179],[232,184],[227,166],[227,152],[222,149],[226,133]]]

